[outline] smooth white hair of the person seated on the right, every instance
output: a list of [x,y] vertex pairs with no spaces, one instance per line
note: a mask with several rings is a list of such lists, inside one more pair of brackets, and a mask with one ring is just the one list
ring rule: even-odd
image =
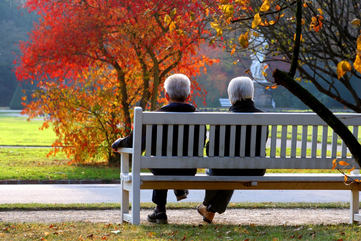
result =
[[229,82],[228,97],[232,105],[241,100],[253,99],[253,92],[255,87],[249,77],[237,77]]

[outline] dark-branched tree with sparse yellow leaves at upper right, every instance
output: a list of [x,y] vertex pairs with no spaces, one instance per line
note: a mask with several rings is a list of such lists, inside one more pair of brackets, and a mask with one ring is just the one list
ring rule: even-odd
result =
[[[360,14],[360,3],[358,1],[332,1],[335,2],[333,5],[331,1],[314,1],[311,4],[309,1],[302,0],[230,3],[222,0],[218,7],[207,2],[217,16],[213,22],[217,36],[222,35],[222,31],[230,27],[231,22],[240,23],[242,26],[240,31],[243,32],[238,39],[231,38],[226,42],[231,53],[237,48],[241,51],[251,49],[267,57],[271,56],[268,61],[280,55],[280,60],[290,63],[287,72],[274,68],[274,80],[271,82],[286,87],[325,120],[343,139],[356,162],[360,164],[361,145],[351,131],[293,79],[298,69],[301,76],[311,79],[319,90],[355,111],[358,110],[360,101],[357,91],[348,77],[359,78],[361,73],[361,35],[358,19],[360,16],[357,15]],[[329,12],[324,12],[326,7]],[[349,11],[350,8],[351,11]],[[325,29],[324,21],[329,24],[328,30],[324,35],[318,35]],[[337,21],[340,25],[336,23]],[[332,27],[334,24],[337,27]],[[231,27],[227,30],[233,33],[236,31]],[[250,48],[250,43],[256,42],[257,39],[261,41]],[[213,39],[210,43],[212,42]],[[265,59],[261,57],[259,60]],[[312,68],[311,73],[307,72],[306,68]],[[331,79],[326,78],[328,74]],[[265,72],[264,75],[266,75]],[[341,96],[335,77],[340,80],[339,86],[347,89],[346,95]],[[296,80],[299,79],[296,78]],[[351,100],[347,98],[348,95],[352,96]]]

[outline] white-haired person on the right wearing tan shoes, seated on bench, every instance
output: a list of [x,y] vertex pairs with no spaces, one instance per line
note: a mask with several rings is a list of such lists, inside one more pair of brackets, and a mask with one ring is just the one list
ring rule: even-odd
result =
[[[264,112],[255,108],[253,103],[253,82],[248,77],[237,77],[231,80],[228,85],[229,100],[232,104],[228,112],[232,113],[257,113]],[[235,156],[239,156],[240,148],[240,126],[236,126],[235,135]],[[268,130],[267,130],[268,138]],[[249,156],[251,141],[251,126],[246,128],[245,156]],[[230,146],[230,126],[226,126],[225,133],[225,156],[229,156]],[[261,126],[257,126],[256,131],[256,156],[260,155],[261,145]],[[206,153],[208,155],[209,142],[206,145]],[[216,126],[214,156],[218,156],[219,150],[219,126]],[[262,150],[265,151],[265,150]],[[211,176],[263,176],[266,169],[206,169]],[[197,211],[203,216],[203,221],[212,223],[214,214],[218,212],[222,214],[226,211],[226,207],[231,200],[234,190],[205,190],[203,203],[197,206]]]

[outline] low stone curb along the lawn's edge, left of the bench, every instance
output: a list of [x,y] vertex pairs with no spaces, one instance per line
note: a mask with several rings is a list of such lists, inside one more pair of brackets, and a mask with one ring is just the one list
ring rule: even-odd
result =
[[120,184],[120,180],[0,180],[0,185],[29,185],[29,184]]

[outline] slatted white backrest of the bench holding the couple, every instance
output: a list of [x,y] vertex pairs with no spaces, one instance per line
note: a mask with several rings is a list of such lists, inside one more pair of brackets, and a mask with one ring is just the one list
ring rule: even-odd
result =
[[[269,168],[269,169],[330,169],[332,160],[353,162],[347,152],[347,147],[338,135],[314,113],[180,113],[180,112],[143,112],[136,107],[134,111],[134,141],[132,169],[140,168]],[[336,116],[360,139],[359,126],[361,115],[336,114]],[[146,151],[141,156],[142,125],[147,125]],[[152,133],[152,125],[158,125],[157,133]],[[168,125],[167,156],[162,156],[162,125]],[[173,143],[173,125],[178,125],[178,156],[171,156]],[[193,137],[194,125],[200,125],[199,132],[204,133],[204,128],[209,125],[209,156],[203,154],[203,134],[199,141],[188,140],[188,156],[182,156],[183,125],[189,125],[189,137]],[[231,127],[230,156],[224,156],[224,145],[219,145],[219,156],[214,153],[215,126],[220,125],[220,143],[224,142],[226,125]],[[241,125],[245,130],[251,126],[251,151],[249,157],[244,157],[245,131],[240,137],[235,137],[236,125]],[[260,156],[255,156],[256,127],[261,126],[261,151]],[[269,126],[270,146],[266,148],[266,131]],[[309,134],[308,134],[309,133]],[[157,135],[156,155],[151,155],[152,135]],[[291,139],[287,138],[290,136]],[[158,138],[160,137],[160,138]],[[240,138],[240,156],[234,156],[234,140]],[[299,139],[297,141],[297,139]],[[327,144],[329,142],[329,144]],[[339,143],[338,143],[339,142]],[[243,144],[242,144],[243,143]],[[198,156],[193,156],[193,145],[199,146]],[[338,148],[340,149],[338,151]],[[354,162],[347,168],[360,167]]]

